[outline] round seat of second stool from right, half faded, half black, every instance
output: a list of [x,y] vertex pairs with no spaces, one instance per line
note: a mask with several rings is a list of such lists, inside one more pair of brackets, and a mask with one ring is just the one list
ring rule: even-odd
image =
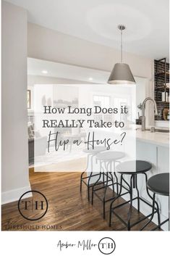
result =
[[[135,168],[135,171],[133,171]],[[145,173],[152,168],[150,162],[136,160],[121,162],[116,166],[118,173],[133,174],[133,173]]]

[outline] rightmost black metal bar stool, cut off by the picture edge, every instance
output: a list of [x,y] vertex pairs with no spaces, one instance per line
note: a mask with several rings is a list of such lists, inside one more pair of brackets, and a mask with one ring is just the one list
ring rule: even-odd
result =
[[[153,192],[153,208],[152,208],[152,215],[148,223],[141,228],[143,230],[148,224],[153,220],[153,216],[155,214],[154,207],[156,204],[156,194],[160,194],[161,196],[169,197],[169,173],[159,173],[155,176],[152,176],[148,179],[147,188]],[[169,218],[163,220],[162,223],[159,223],[156,228],[153,228],[152,231],[160,228],[163,224],[169,221]]]

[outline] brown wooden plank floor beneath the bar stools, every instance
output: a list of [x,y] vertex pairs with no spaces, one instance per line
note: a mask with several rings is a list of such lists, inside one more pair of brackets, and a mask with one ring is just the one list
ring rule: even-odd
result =
[[[40,220],[25,220],[17,209],[17,202],[2,206],[2,230],[61,230],[61,231],[125,231],[124,224],[113,216],[109,228],[109,205],[106,203],[106,220],[102,218],[102,203],[95,197],[92,206],[87,199],[86,186],[80,194],[80,173],[34,173],[30,169],[31,189],[41,191],[48,199],[48,212]],[[102,190],[101,192],[102,193]],[[109,189],[108,196],[113,192]],[[101,194],[102,195],[102,194]],[[124,202],[119,199],[119,202]],[[119,208],[119,214],[127,218],[128,204]],[[132,222],[143,215],[133,209]],[[146,220],[147,221],[147,220]],[[140,230],[146,221],[132,228]],[[154,228],[150,223],[146,230]]]

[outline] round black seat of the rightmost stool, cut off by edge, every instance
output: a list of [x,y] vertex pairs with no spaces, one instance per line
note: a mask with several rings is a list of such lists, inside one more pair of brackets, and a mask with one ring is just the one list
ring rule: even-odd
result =
[[169,173],[159,173],[150,177],[147,186],[153,193],[169,196]]

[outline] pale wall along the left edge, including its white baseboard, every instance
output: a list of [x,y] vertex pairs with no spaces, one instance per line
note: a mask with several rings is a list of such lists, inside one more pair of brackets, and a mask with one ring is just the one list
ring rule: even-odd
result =
[[27,12],[2,1],[2,203],[30,189],[26,93]]

